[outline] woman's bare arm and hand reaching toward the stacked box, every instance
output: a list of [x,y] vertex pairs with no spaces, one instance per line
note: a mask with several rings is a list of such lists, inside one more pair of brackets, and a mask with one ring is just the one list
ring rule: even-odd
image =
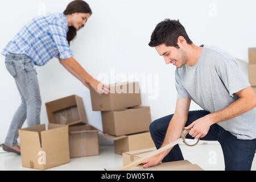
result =
[[97,93],[109,93],[109,86],[102,84],[101,82],[95,80],[92,76],[85,71],[84,68],[73,58],[59,59],[60,63],[77,79],[79,79],[86,87],[96,90]]

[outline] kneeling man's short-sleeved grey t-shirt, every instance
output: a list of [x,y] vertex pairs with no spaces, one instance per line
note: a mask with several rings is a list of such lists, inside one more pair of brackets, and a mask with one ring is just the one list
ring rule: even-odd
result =
[[[214,113],[238,99],[234,93],[250,86],[229,53],[204,46],[193,66],[183,65],[175,71],[177,98],[190,97],[204,110]],[[256,108],[238,117],[218,122],[238,139],[256,138]]]

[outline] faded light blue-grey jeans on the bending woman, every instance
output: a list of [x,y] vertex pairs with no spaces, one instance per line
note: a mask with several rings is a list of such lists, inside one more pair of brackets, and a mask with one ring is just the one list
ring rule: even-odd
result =
[[21,104],[14,114],[5,139],[9,146],[18,145],[18,129],[27,118],[28,127],[40,124],[41,97],[36,72],[27,55],[10,53],[6,55],[5,65],[14,77],[21,97]]

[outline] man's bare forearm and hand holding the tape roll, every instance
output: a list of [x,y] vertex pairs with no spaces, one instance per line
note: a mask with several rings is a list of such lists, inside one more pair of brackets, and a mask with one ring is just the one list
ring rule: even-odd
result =
[[195,138],[203,138],[207,135],[209,127],[214,123],[237,117],[256,106],[256,96],[250,86],[235,94],[239,97],[238,100],[234,101],[228,107],[205,115],[205,117],[199,118],[188,127],[185,127],[185,129],[192,128],[191,131],[189,131],[189,135]]

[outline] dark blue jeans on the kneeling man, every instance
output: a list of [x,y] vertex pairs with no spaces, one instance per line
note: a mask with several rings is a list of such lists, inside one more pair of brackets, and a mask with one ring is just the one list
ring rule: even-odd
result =
[[[209,111],[205,110],[189,111],[188,121],[185,126],[190,125],[193,121],[196,121],[196,119],[208,114],[210,114]],[[172,116],[173,114],[167,115],[166,117],[156,119],[151,123],[150,134],[156,148],[161,147]],[[186,138],[193,139],[189,134]],[[249,171],[251,169],[251,163],[253,162],[256,150],[256,139],[237,139],[234,135],[230,134],[229,131],[226,131],[221,126],[214,124],[210,126],[208,134],[205,135],[205,137],[200,138],[200,140],[217,140],[220,142],[222,152],[224,154],[225,170]],[[184,160],[178,144],[172,148],[162,162],[172,162],[177,160]]]

